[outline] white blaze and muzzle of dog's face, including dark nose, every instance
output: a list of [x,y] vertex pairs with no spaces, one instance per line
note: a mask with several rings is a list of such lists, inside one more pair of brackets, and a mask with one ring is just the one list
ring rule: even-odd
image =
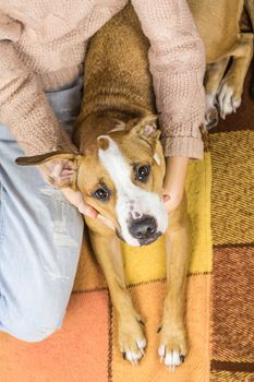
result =
[[108,140],[108,148],[99,150],[99,159],[117,191],[116,214],[121,228],[120,236],[135,247],[153,242],[165,232],[168,216],[160,195],[137,184],[153,177],[152,164],[129,164],[118,144],[111,138]]

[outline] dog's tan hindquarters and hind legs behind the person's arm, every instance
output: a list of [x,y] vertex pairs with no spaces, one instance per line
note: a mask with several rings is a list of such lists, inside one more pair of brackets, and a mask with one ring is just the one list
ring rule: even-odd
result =
[[241,105],[244,79],[253,58],[253,32],[242,33],[244,5],[254,26],[253,0],[188,0],[206,51],[207,129]]

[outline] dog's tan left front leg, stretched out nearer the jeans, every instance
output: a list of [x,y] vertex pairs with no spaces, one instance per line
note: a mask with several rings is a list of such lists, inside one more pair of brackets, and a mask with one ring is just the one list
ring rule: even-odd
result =
[[131,296],[124,283],[120,240],[114,234],[101,236],[90,232],[90,241],[107,279],[117,313],[120,350],[124,358],[136,365],[144,355],[146,339],[141,326],[143,322],[132,305]]

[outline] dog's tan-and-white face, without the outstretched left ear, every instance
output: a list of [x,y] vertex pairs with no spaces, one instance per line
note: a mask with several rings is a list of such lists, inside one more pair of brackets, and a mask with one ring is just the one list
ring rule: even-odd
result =
[[110,218],[126,243],[138,247],[155,241],[168,226],[161,194],[165,160],[156,127],[101,135],[97,165],[95,151],[93,154],[87,156],[83,174],[84,193],[92,196],[87,203]]

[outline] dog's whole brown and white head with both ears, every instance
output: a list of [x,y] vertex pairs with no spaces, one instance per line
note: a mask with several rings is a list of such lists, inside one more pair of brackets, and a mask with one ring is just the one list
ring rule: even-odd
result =
[[47,164],[52,186],[78,189],[87,204],[111,220],[122,240],[148,244],[168,226],[165,158],[155,121],[148,116],[112,127],[82,154],[55,152],[16,162]]

